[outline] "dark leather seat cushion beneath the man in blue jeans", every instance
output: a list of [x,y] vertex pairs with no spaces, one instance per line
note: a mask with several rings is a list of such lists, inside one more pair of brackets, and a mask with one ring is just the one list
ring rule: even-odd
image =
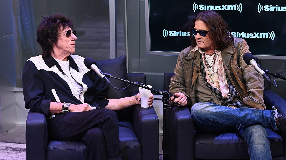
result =
[[[283,139],[267,129],[272,157],[283,155]],[[194,157],[198,159],[249,159],[246,141],[236,133],[194,135]]]

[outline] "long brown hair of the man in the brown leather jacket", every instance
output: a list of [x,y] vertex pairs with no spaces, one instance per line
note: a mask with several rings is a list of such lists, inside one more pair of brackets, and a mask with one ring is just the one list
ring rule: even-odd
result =
[[[206,10],[197,13],[192,20],[193,24],[190,29],[194,28],[196,20],[202,20],[209,28],[208,35],[214,42],[215,49],[222,50],[233,43],[233,35],[227,22],[215,11]],[[190,33],[189,40],[191,41],[191,46],[194,48],[197,44],[192,33]]]

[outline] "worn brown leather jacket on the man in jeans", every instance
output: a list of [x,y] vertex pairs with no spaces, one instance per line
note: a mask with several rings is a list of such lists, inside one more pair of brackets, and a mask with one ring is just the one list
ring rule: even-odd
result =
[[[170,93],[183,93],[188,97],[188,107],[196,103],[196,79],[200,73],[200,53],[192,52],[189,46],[178,57],[171,78]],[[246,107],[266,109],[263,102],[264,80],[253,66],[243,61],[249,46],[241,38],[234,37],[233,45],[221,50],[223,66],[231,83],[237,90]]]

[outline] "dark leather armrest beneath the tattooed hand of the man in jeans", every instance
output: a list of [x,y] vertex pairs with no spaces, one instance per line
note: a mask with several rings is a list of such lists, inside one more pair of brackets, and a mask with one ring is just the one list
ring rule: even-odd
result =
[[172,160],[193,159],[194,122],[187,107],[167,108],[167,154]]

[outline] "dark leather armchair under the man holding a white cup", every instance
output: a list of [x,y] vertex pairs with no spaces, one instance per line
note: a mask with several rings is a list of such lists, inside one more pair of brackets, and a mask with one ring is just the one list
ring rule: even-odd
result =
[[[143,73],[129,73],[126,70],[126,57],[97,61],[98,67],[114,77],[128,79],[131,82],[144,83]],[[110,78],[111,83],[124,88],[123,81]],[[110,99],[129,96],[139,92],[138,87],[129,86],[123,91],[112,87]],[[119,119],[119,138],[123,160],[159,159],[159,120],[153,107],[132,106],[117,112]],[[49,138],[47,117],[38,112],[30,112],[26,122],[26,158],[41,159],[86,159],[85,145],[78,141],[54,141]]]

